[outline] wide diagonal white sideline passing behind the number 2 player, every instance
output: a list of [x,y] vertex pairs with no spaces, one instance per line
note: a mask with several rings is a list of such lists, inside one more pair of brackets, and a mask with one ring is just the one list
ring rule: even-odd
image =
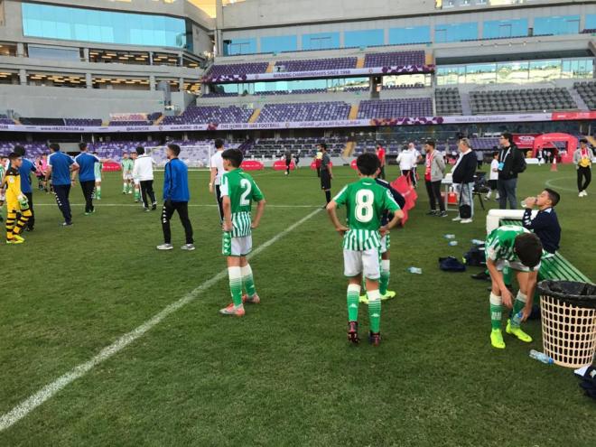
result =
[[[281,233],[278,233],[275,237],[272,237],[264,244],[257,247],[248,257],[252,258],[253,256],[256,256],[262,251],[264,251],[267,247],[271,247],[279,239],[292,232],[295,228],[300,227],[304,222],[311,219],[315,214],[317,214],[320,211],[321,210],[312,211],[312,213],[310,213],[308,216],[298,220],[290,227],[284,229],[284,231],[282,231]],[[8,413],[2,414],[2,416],[0,416],[0,432],[3,432],[13,424],[19,422],[21,419],[23,419],[23,417],[25,417],[27,414],[31,413],[35,408],[49,400],[52,396],[61,391],[62,388],[70,385],[70,383],[74,380],[78,379],[79,377],[85,376],[85,374],[87,374],[91,369],[97,367],[100,363],[114,356],[122,349],[125,349],[133,341],[143,337],[143,335],[147,331],[150,331],[152,328],[154,328],[154,326],[163,321],[164,318],[170,316],[173,312],[178,311],[186,304],[194,301],[199,295],[199,293],[209,289],[211,285],[216,284],[220,279],[226,277],[226,275],[228,275],[227,268],[223,269],[221,272],[219,272],[219,274],[211,277],[203,284],[200,284],[191,292],[186,293],[184,296],[182,296],[180,300],[171,303],[165,308],[163,308],[161,312],[156,313],[153,318],[145,321],[143,324],[138,326],[133,331],[124,334],[111,345],[107,346],[104,349],[101,349],[99,353],[92,359],[86,361],[85,363],[79,364],[75,368],[70,369],[69,372],[62,375],[61,377],[58,377],[56,380],[51,382],[51,384],[43,386],[42,389],[40,389],[37,393],[23,400],[23,402],[21,402],[19,405],[16,405]]]

